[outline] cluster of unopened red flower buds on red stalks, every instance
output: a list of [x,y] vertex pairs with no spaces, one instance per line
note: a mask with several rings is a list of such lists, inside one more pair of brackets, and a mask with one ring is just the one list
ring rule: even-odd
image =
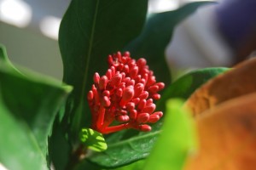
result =
[[131,59],[125,52],[108,56],[108,71],[102,77],[96,72],[94,84],[87,95],[92,114],[92,128],[100,133],[113,133],[134,128],[148,132],[148,123],[163,116],[154,111],[154,100],[165,87],[156,82],[146,59]]

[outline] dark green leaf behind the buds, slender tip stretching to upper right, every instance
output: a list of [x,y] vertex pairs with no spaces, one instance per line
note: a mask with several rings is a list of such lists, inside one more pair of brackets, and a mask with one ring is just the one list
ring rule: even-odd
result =
[[196,8],[206,3],[189,3],[174,11],[149,15],[142,34],[126,47],[133,56],[147,59],[158,82],[165,82],[166,86],[171,82],[171,74],[166,65],[165,49],[170,42],[174,27]]

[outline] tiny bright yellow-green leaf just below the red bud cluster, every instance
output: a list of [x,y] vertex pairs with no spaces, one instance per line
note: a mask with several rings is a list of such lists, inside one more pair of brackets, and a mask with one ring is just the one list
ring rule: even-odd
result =
[[105,142],[102,133],[98,133],[91,128],[82,128],[80,139],[90,150],[101,152],[108,149],[108,145]]

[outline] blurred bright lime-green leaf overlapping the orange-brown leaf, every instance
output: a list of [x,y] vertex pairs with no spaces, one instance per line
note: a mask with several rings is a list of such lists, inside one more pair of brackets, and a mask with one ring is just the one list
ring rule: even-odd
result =
[[183,109],[183,101],[168,100],[162,133],[150,156],[145,170],[180,170],[190,150],[195,150],[195,127],[188,111]]

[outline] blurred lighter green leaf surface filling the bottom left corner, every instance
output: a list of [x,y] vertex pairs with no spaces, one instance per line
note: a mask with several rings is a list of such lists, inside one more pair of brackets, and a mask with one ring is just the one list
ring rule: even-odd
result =
[[[44,154],[26,122],[17,121],[0,98],[0,161],[9,169],[47,169]],[[3,122],[4,121],[4,122]]]

